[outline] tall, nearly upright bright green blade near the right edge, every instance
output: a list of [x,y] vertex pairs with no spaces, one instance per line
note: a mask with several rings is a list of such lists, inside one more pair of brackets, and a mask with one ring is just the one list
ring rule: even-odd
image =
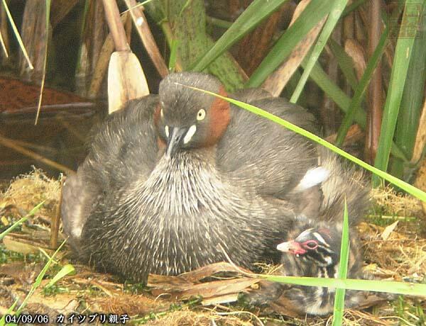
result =
[[[416,1],[417,0],[405,1],[403,18],[408,15],[408,5],[417,4]],[[426,0],[422,1],[422,8],[425,8],[425,4]],[[420,17],[421,12],[418,14]],[[403,89],[405,79],[407,78],[408,65],[410,64],[410,58],[413,52],[413,44],[414,38],[403,38],[403,35],[400,34],[395,48],[391,80],[389,81],[388,96],[386,96],[385,108],[383,110],[383,120],[374,164],[375,167],[383,171],[388,169],[393,133],[395,132],[396,120],[398,119],[400,103],[403,97]],[[379,180],[373,177],[373,183],[377,185],[379,184]]]

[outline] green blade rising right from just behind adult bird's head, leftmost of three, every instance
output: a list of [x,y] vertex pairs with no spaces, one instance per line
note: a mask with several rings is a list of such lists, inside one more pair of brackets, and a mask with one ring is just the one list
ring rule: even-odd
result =
[[219,40],[197,60],[190,70],[201,72],[217,57],[234,45],[238,40],[255,28],[263,19],[270,16],[271,13],[280,8],[287,0],[255,0],[246,10],[241,13],[239,18],[229,27]]

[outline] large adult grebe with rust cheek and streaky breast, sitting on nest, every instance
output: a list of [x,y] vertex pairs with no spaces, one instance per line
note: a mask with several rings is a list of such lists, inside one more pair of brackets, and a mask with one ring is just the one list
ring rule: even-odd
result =
[[[159,96],[111,115],[63,191],[65,232],[80,257],[136,281],[226,259],[250,266],[293,218],[286,195],[317,164],[315,147],[214,96],[217,79],[170,74]],[[315,131],[304,109],[236,94]]]

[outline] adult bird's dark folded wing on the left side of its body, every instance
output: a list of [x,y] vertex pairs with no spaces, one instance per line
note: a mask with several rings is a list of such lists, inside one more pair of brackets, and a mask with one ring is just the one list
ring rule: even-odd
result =
[[[158,145],[153,111],[158,97],[130,101],[111,114],[92,137],[89,154],[62,190],[62,223],[70,242],[79,246],[82,228],[109,193],[121,193],[130,181],[144,181],[155,166]],[[118,201],[119,198],[116,198]]]

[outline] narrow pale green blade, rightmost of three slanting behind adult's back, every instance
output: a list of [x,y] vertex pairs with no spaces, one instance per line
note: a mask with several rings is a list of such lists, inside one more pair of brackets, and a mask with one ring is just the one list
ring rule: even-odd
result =
[[322,28],[322,32],[318,37],[317,43],[315,44],[314,49],[312,50],[309,60],[307,60],[305,64],[305,70],[299,80],[299,83],[296,86],[295,91],[293,92],[293,96],[291,96],[291,103],[296,103],[297,99],[299,99],[300,94],[302,94],[302,90],[305,87],[307,78],[309,77],[310,72],[312,71],[312,68],[315,65],[315,62],[317,62],[318,58],[320,57],[324,46],[327,44],[327,40],[329,39],[330,35],[332,35],[332,31],[336,26],[337,21],[339,21],[339,18],[342,15],[344,8],[346,7],[348,0],[334,0],[330,2],[332,2],[333,5],[330,9],[329,16],[324,24],[324,28]]

